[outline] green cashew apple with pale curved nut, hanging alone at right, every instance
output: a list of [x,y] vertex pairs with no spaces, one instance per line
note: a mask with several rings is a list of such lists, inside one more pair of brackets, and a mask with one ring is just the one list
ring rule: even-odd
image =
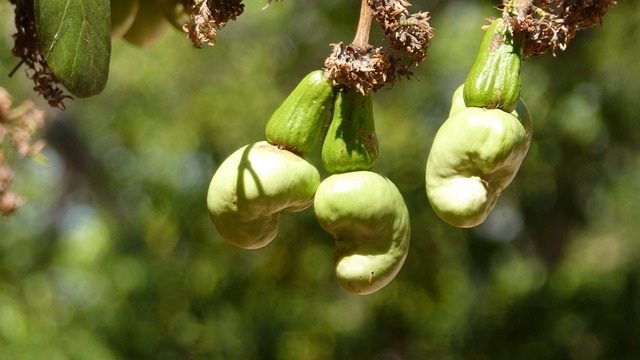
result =
[[481,224],[529,150],[531,118],[520,100],[521,61],[522,39],[501,18],[493,21],[435,136],[427,196],[451,225]]

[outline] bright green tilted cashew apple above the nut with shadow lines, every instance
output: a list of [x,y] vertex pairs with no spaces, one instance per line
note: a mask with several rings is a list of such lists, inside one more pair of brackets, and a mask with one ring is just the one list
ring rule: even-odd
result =
[[334,92],[322,70],[309,73],[271,115],[267,141],[297,154],[310,153],[331,120]]

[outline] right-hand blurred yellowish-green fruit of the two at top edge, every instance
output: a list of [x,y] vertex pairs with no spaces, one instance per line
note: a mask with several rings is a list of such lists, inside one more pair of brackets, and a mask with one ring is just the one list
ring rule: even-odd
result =
[[148,48],[160,41],[168,28],[169,21],[155,0],[139,0],[136,18],[123,38],[132,45]]

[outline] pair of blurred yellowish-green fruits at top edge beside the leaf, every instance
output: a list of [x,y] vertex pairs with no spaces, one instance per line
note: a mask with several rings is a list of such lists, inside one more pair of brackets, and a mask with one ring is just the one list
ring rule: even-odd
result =
[[111,0],[111,39],[147,48],[189,21],[187,0]]

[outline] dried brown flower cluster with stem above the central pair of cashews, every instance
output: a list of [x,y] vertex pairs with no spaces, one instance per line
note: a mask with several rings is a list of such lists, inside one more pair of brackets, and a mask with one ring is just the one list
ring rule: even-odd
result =
[[[363,46],[355,40],[349,46],[331,44],[333,52],[324,65],[325,75],[335,86],[355,88],[366,94],[393,84],[398,75],[410,78],[410,67],[427,58],[435,31],[429,26],[428,13],[411,14],[407,10],[411,4],[405,0],[366,0],[363,6],[368,7],[368,13],[363,12],[361,17],[373,17],[382,26],[389,40],[388,48]],[[368,20],[367,36],[371,25],[371,19]]]

